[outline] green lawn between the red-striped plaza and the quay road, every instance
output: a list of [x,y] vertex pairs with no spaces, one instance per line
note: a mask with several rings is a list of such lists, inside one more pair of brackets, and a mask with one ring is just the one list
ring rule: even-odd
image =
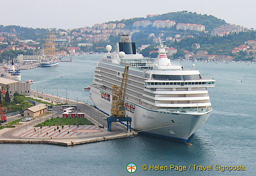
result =
[[[52,126],[52,125],[75,125],[76,124],[76,118],[51,118],[47,119],[44,122],[39,123],[40,126]],[[77,124],[79,125],[88,125],[88,124],[94,124],[91,121],[89,121],[86,118],[77,117]],[[37,125],[35,125],[37,127]]]

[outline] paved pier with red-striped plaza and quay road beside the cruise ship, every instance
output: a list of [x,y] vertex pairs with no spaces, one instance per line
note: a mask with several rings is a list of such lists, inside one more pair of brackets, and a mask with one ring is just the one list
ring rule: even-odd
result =
[[[131,130],[127,133],[126,127],[119,123],[112,123],[112,132],[108,131],[108,123],[106,121],[107,115],[86,103],[77,102],[75,100],[57,97],[54,95],[44,94],[36,91],[31,91],[30,96],[35,98],[47,98],[44,99],[48,103],[63,102],[70,105],[77,105],[77,109],[84,112],[86,118],[94,123],[94,125],[57,125],[51,127],[34,127],[36,124],[59,116],[61,117],[62,110],[60,106],[55,106],[53,111],[47,116],[35,117],[33,120],[28,122],[20,122],[22,124],[15,125],[16,128],[5,128],[0,132],[0,143],[46,143],[55,144],[61,146],[70,146],[77,144],[85,144],[91,142],[134,137],[138,133]],[[19,117],[15,116],[15,119]],[[22,118],[22,116],[20,116]],[[75,118],[75,117],[74,117]],[[14,117],[13,117],[14,119]],[[12,117],[8,118],[8,122],[13,120]],[[6,122],[6,123],[8,123]],[[105,127],[105,128],[103,128]]]

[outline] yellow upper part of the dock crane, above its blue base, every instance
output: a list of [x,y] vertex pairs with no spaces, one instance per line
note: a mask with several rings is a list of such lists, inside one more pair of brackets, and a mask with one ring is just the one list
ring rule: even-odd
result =
[[114,117],[123,117],[125,115],[125,91],[127,87],[129,65],[125,65],[121,87],[112,85],[112,106],[111,114]]

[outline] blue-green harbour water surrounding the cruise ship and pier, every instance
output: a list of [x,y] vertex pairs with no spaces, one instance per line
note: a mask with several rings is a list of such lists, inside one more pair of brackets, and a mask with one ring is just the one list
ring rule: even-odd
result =
[[[23,81],[38,81],[38,91],[86,100],[83,91],[93,80],[93,71],[101,55],[74,57],[57,67],[23,70]],[[193,68],[192,62],[182,62]],[[256,64],[195,63],[203,77],[216,79],[209,89],[213,113],[190,138],[192,146],[159,137],[138,137],[62,147],[46,144],[1,145],[2,175],[255,175]],[[61,78],[62,76],[62,78]],[[243,82],[240,82],[240,81]],[[36,90],[37,84],[31,88]],[[128,163],[137,171],[126,171]],[[141,166],[222,165],[245,166],[245,171],[143,171]]]

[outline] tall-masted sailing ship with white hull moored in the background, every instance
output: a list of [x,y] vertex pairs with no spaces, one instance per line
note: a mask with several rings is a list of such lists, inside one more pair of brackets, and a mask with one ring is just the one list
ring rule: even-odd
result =
[[41,61],[41,66],[42,67],[50,67],[54,65],[58,65],[58,58],[57,58],[57,48],[55,47],[56,43],[56,35],[55,32],[48,32],[46,39],[45,39],[45,44],[44,44],[44,53],[45,53],[45,60]]

